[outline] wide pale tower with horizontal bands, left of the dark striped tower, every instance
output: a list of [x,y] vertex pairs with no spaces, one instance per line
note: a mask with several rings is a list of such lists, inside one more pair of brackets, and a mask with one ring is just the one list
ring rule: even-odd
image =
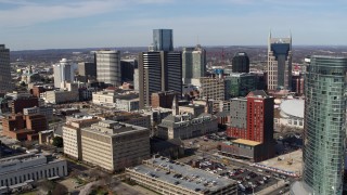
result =
[[120,52],[116,50],[101,50],[95,52],[98,81],[120,86]]

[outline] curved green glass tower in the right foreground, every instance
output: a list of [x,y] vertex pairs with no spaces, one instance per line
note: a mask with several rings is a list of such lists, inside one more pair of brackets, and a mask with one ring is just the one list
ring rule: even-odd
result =
[[305,75],[303,181],[291,194],[343,193],[347,57],[311,56]]

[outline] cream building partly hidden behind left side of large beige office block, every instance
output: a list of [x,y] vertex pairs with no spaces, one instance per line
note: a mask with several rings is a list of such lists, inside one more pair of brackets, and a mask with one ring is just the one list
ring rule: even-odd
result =
[[99,122],[100,119],[80,119],[68,121],[63,126],[64,154],[82,160],[81,148],[81,128],[90,127],[92,123]]

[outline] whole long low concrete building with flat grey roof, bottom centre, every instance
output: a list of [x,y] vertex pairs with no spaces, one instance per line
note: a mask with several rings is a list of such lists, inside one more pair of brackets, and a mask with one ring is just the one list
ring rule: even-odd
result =
[[164,157],[144,160],[126,172],[130,180],[159,194],[237,194],[235,181]]

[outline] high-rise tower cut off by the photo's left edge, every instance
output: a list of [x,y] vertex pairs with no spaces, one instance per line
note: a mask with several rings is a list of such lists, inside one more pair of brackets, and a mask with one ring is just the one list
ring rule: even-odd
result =
[[0,93],[4,94],[13,89],[11,79],[10,50],[0,44]]

